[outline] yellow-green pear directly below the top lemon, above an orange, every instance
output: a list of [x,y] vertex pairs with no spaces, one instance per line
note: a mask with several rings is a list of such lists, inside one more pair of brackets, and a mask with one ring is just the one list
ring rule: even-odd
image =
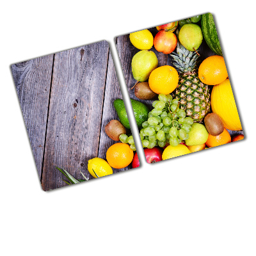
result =
[[142,50],[132,58],[132,75],[137,81],[145,82],[157,66],[156,54],[152,51]]

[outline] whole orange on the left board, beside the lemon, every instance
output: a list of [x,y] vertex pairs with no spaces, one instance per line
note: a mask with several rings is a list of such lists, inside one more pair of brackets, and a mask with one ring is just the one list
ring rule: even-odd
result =
[[133,151],[128,144],[115,143],[108,148],[106,158],[109,165],[113,168],[125,168],[132,163]]

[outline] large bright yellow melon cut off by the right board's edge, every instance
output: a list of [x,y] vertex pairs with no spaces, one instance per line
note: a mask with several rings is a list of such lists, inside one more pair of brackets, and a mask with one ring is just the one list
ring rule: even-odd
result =
[[212,112],[220,116],[226,129],[232,131],[242,130],[229,79],[213,86],[211,106]]

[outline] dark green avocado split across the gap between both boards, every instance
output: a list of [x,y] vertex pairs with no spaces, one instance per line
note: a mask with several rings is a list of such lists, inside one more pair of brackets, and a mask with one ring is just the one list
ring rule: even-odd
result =
[[[131,99],[131,103],[137,125],[139,128],[141,128],[142,123],[148,120],[149,109],[145,104],[141,103],[138,100]],[[127,129],[131,129],[125,110],[124,101],[121,99],[116,99],[114,101],[114,108],[116,109],[116,113],[120,119],[121,124],[124,125],[124,127],[126,127]]]

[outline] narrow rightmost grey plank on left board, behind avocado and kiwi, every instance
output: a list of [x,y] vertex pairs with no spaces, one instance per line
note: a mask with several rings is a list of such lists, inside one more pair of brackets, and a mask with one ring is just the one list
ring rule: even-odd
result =
[[[100,130],[100,144],[99,144],[99,154],[98,157],[106,160],[106,152],[108,148],[120,141],[113,141],[105,132],[105,126],[108,124],[110,120],[116,119],[119,120],[116,110],[113,106],[113,102],[115,99],[122,99],[122,94],[120,92],[120,86],[118,83],[118,79],[116,77],[116,70],[113,63],[113,59],[111,56],[111,52],[109,52],[109,61],[108,61],[108,74],[106,79],[106,89],[105,89],[105,97],[104,97],[104,106],[102,113],[102,123]],[[128,131],[128,130],[127,130]],[[129,131],[131,132],[131,131]],[[131,169],[131,164],[122,169],[113,169],[113,173],[122,172],[124,170]]]

